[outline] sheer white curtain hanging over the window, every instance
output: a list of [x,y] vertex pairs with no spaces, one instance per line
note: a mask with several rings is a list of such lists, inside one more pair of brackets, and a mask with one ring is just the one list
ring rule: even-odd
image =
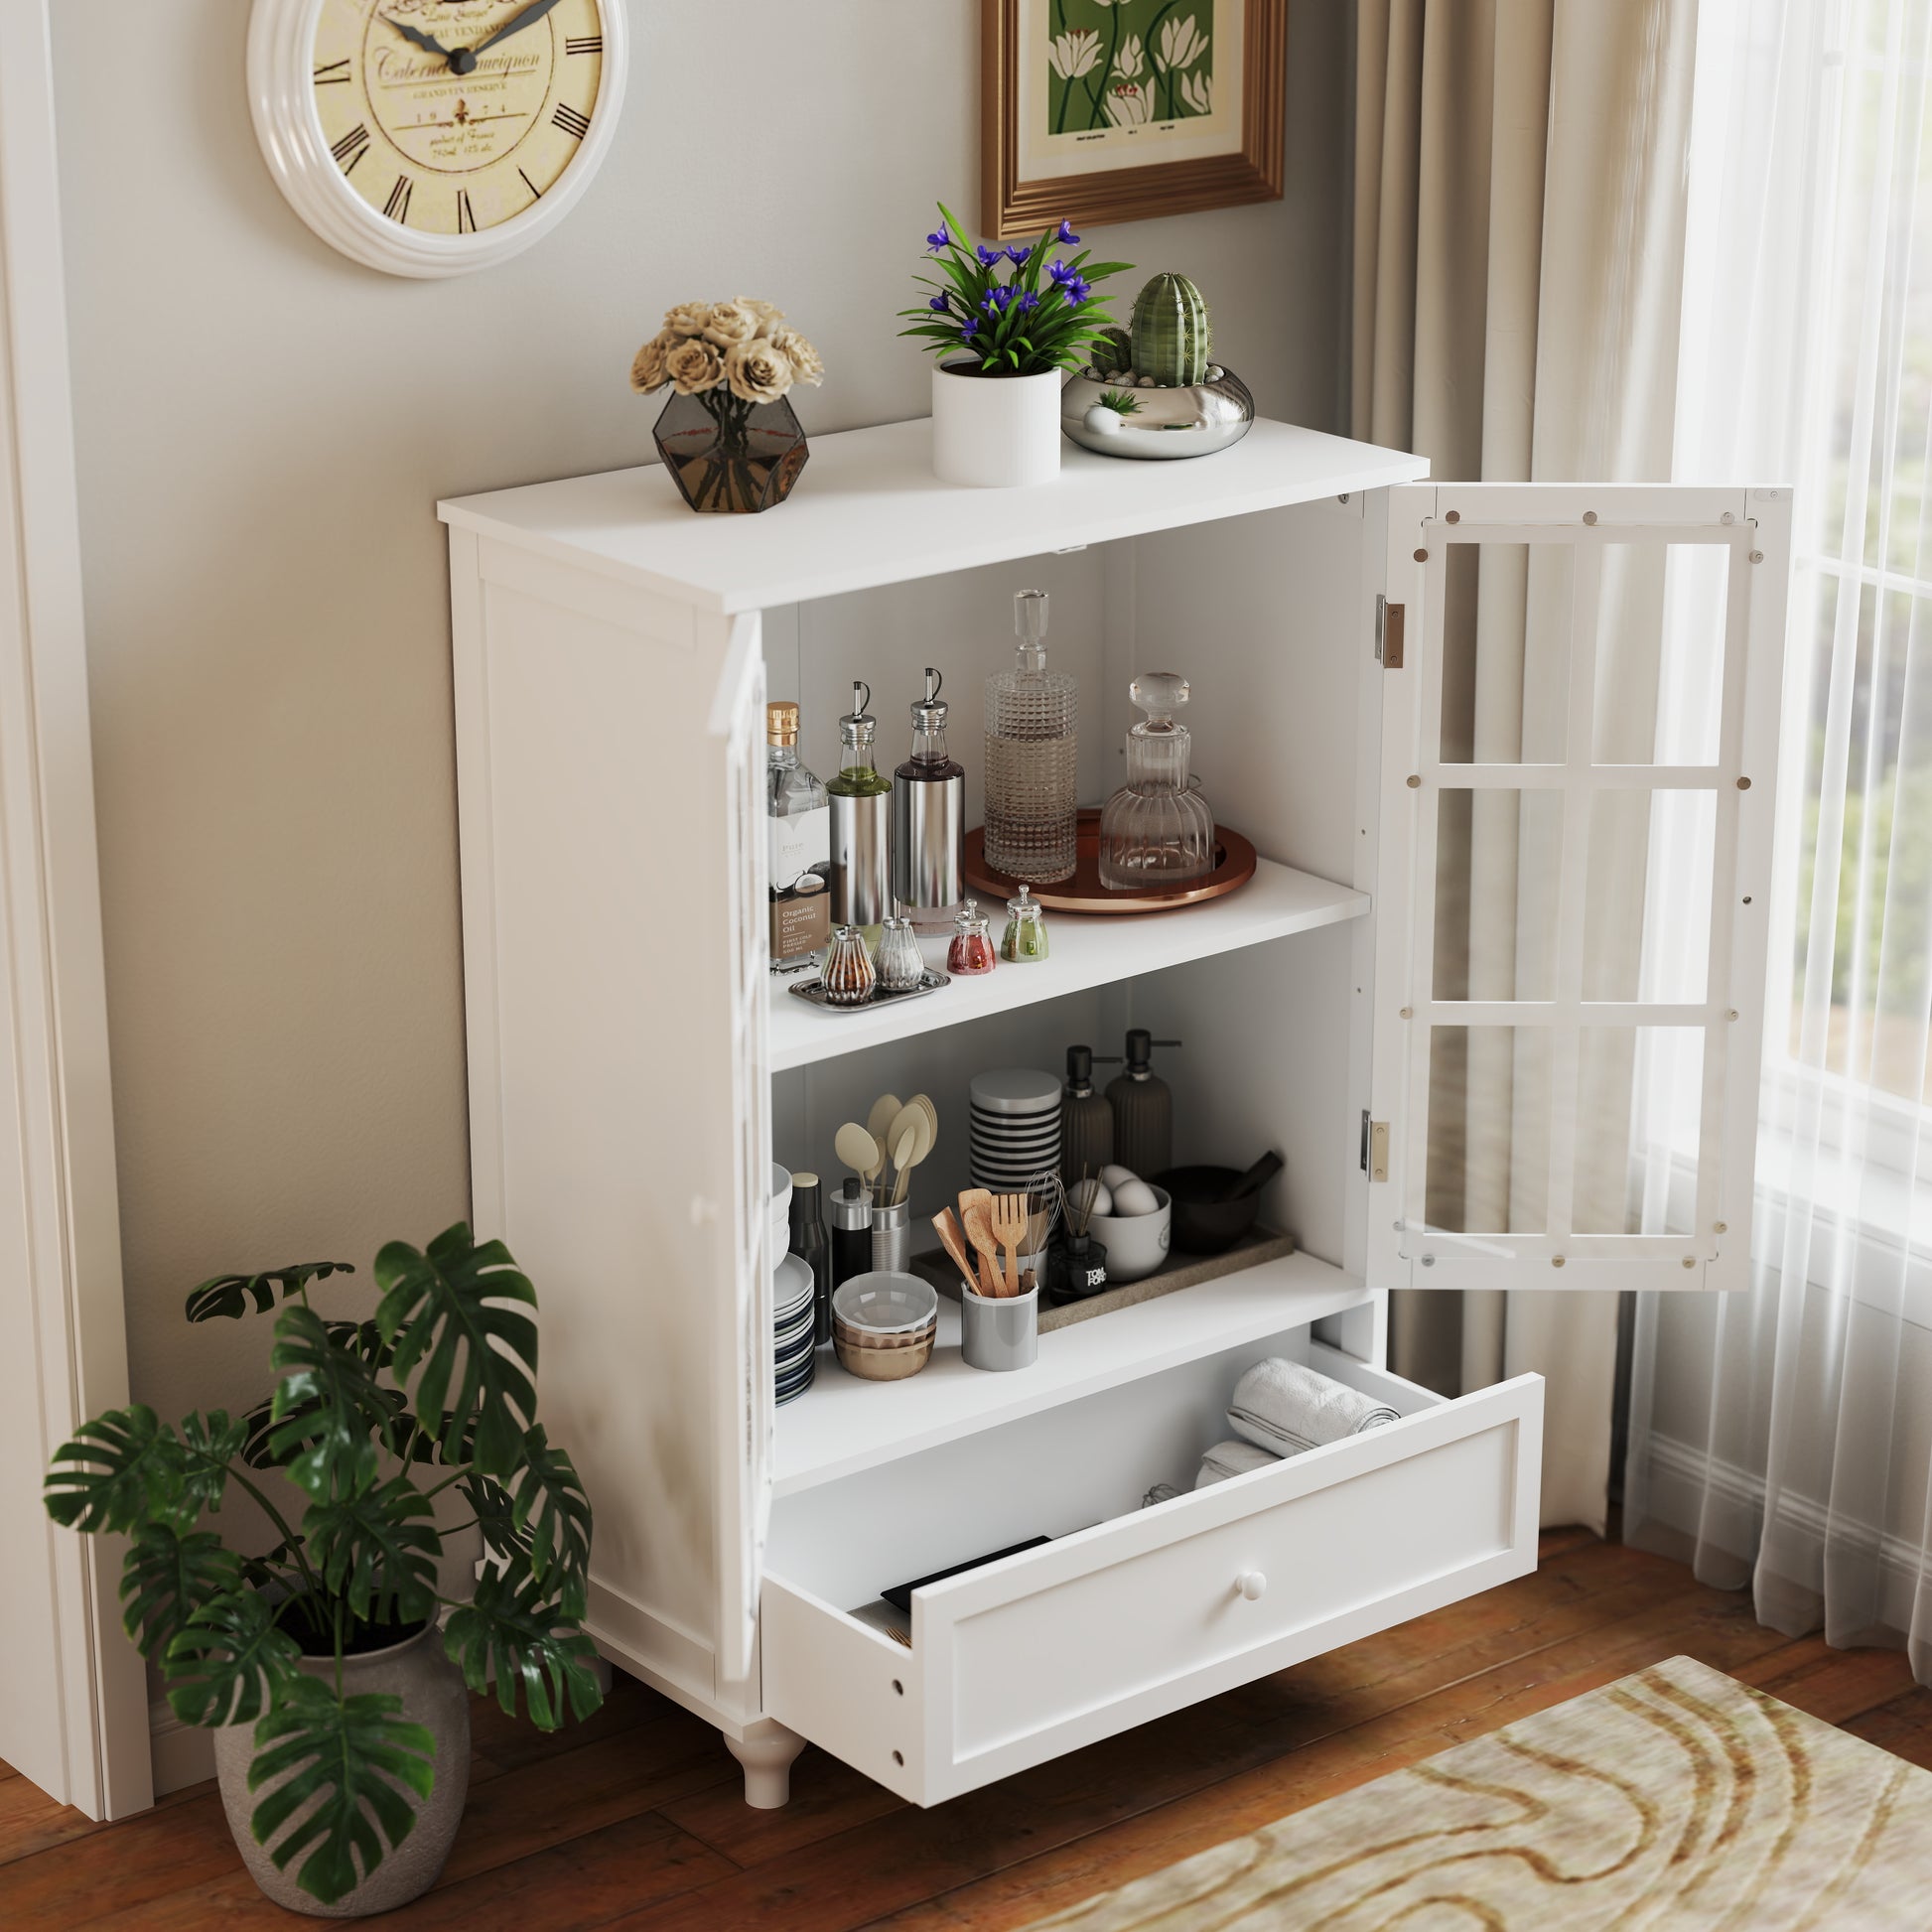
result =
[[1932,0],[1696,31],[1675,473],[1797,576],[1754,1285],[1640,1300],[1625,1534],[1932,1681]]

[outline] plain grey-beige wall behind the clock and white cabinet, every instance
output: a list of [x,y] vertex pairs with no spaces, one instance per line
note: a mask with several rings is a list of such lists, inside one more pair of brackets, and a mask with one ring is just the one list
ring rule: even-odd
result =
[[[893,311],[933,199],[976,203],[978,12],[636,0],[564,228],[415,284],[282,203],[242,0],[54,10],[128,1327],[164,1414],[265,1379],[261,1327],[187,1329],[187,1285],[468,1209],[437,497],[645,460],[624,375],[684,298],[792,313],[811,431],[923,413]],[[1345,27],[1291,10],[1285,201],[1101,238],[1194,274],[1262,408],[1320,427]]]

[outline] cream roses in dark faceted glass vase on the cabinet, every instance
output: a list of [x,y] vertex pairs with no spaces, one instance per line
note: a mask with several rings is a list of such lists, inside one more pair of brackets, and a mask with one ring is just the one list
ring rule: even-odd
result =
[[694,510],[763,510],[782,500],[806,462],[806,439],[786,408],[782,421],[753,412],[784,402],[794,383],[825,379],[819,352],[752,296],[680,301],[638,350],[630,386],[651,396],[667,384],[697,400],[705,421],[674,423],[676,400],[659,419],[657,444]]

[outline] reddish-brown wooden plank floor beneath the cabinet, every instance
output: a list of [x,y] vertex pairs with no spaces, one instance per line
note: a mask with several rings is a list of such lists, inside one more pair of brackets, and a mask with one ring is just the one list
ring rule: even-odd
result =
[[[1557,1530],[1534,1577],[925,1812],[817,1750],[786,1810],[748,1810],[717,1735],[622,1677],[556,1737],[475,1704],[448,1870],[383,1924],[1022,1926],[1679,1652],[1932,1768],[1932,1690],[1897,1652],[1793,1642],[1748,1596]],[[0,1926],[290,1922],[243,1874],[213,1785],[91,1826],[0,1766]]]

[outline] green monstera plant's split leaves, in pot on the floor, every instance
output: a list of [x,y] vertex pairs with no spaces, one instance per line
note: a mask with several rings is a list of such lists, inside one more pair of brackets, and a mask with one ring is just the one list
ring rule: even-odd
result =
[[[338,1273],[354,1269],[303,1262],[203,1281],[189,1321],[276,1310],[274,1393],[243,1416],[216,1408],[178,1428],[139,1403],[110,1410],[46,1478],[56,1522],[129,1538],[128,1634],[160,1667],[176,1716],[253,1725],[242,1760],[249,1799],[259,1793],[251,1835],[278,1872],[299,1861],[296,1884],[325,1905],[410,1835],[439,1770],[404,1698],[352,1689],[357,1654],[446,1609],[448,1658],[471,1690],[495,1677],[512,1716],[522,1698],[554,1729],[566,1708],[585,1718],[601,1702],[580,1629],[591,1511],[537,1422],[535,1289],[502,1242],[477,1246],[462,1223],[427,1252],[383,1248],[371,1320],[330,1321],[309,1306],[311,1285]],[[267,1470],[292,1492],[257,1480]],[[205,1526],[230,1486],[272,1524],[270,1549],[232,1549]],[[437,1526],[444,1490],[471,1520]],[[440,1596],[444,1538],[471,1524],[483,1573],[473,1594]]]

